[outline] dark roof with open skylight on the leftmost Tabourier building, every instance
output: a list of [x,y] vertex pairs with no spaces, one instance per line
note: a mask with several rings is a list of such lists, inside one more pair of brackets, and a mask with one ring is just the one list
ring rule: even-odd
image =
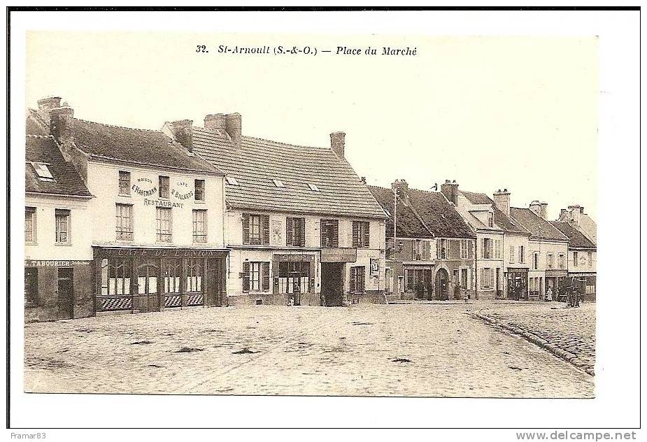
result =
[[[54,138],[27,117],[27,138],[24,145],[24,189],[26,192],[92,197],[74,166],[66,162]],[[45,163],[55,181],[38,178],[31,163]]]

